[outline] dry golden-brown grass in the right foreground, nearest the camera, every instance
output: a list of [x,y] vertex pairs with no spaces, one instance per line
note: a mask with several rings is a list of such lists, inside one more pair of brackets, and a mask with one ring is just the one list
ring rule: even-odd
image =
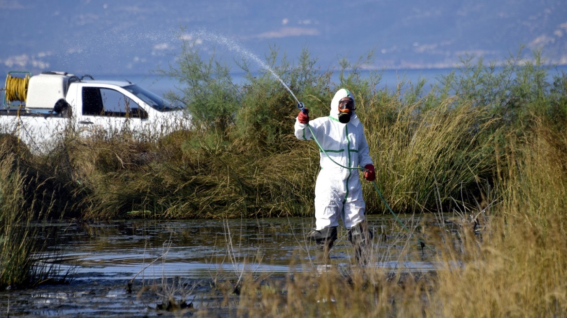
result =
[[[239,314],[265,317],[563,317],[567,314],[567,140],[541,124],[510,137],[498,200],[476,227],[426,225],[427,273],[380,268],[245,281]],[[479,207],[481,205],[479,204]],[[456,213],[457,216],[464,213]],[[466,214],[469,215],[468,213]],[[475,232],[475,229],[477,232]],[[453,242],[453,243],[451,243]],[[411,260],[411,255],[409,255]],[[419,260],[415,257],[414,261]]]

